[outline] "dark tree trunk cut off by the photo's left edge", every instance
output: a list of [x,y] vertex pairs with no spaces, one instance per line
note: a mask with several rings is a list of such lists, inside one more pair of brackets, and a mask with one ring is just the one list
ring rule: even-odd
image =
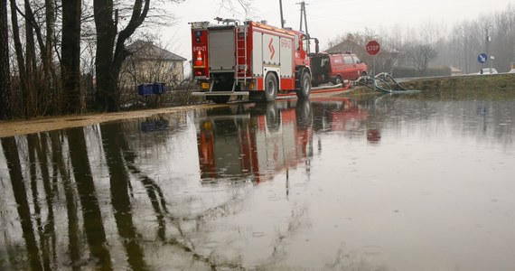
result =
[[9,67],[7,0],[0,0],[0,119],[12,117],[11,70]]

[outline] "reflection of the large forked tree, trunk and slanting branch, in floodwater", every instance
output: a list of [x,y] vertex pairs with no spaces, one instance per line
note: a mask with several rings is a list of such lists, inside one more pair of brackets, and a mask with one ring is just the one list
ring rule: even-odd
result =
[[[137,180],[142,182],[145,187],[145,192],[151,202],[158,223],[157,238],[166,245],[171,245],[183,250],[183,252],[191,254],[194,261],[200,261],[207,266],[217,266],[210,257],[205,257],[197,253],[194,243],[187,237],[186,231],[183,229],[183,224],[188,224],[191,220],[187,218],[177,218],[169,213],[169,210],[166,208],[164,192],[161,187],[154,179],[143,173],[136,166],[137,155],[134,150],[130,149],[126,137],[123,136],[123,127],[124,126],[120,123],[107,124],[101,126],[101,131],[102,137],[105,139],[105,153],[110,174],[111,197],[115,210],[115,220],[117,222],[118,233],[120,237],[124,239],[129,265],[137,270],[147,268],[143,255],[144,248],[138,245],[142,241],[141,235],[136,232],[136,226],[134,225],[134,220],[131,215],[132,204],[129,198],[130,177],[127,170],[136,176]],[[201,221],[205,220],[206,217],[212,217],[214,212],[219,212],[220,209],[224,208],[224,206],[219,206],[208,210],[205,214],[196,215],[193,219],[195,220],[194,223],[197,224],[195,228],[198,228]],[[176,238],[166,236],[166,229],[172,227],[179,233],[179,236]],[[225,264],[224,266],[235,267],[239,265]]]

